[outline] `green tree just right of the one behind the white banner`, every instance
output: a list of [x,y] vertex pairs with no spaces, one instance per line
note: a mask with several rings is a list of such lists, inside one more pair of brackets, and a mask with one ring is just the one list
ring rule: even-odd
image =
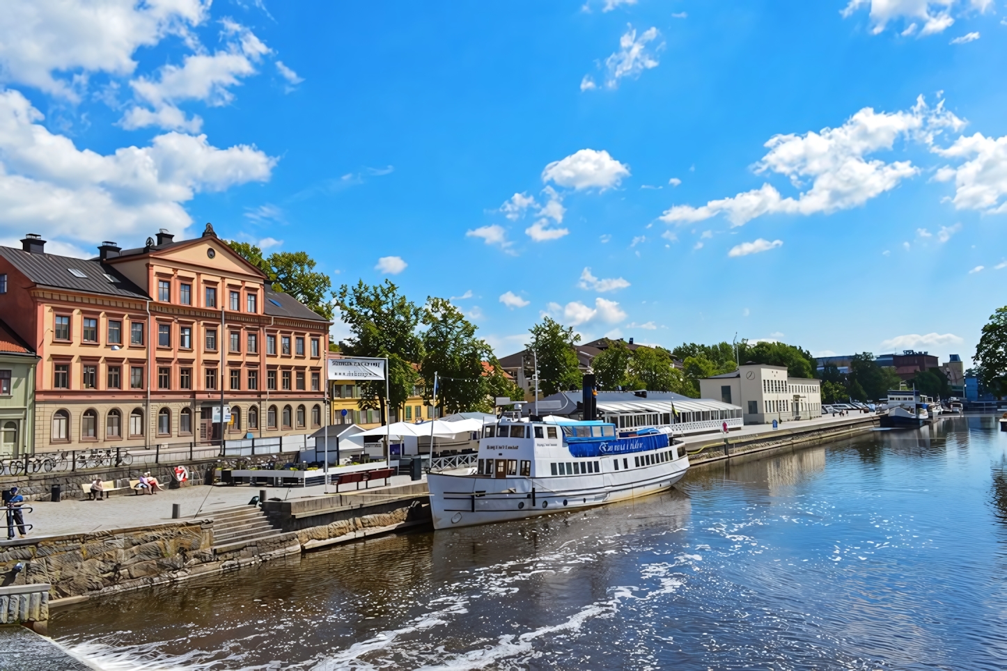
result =
[[475,326],[448,300],[428,298],[423,325],[420,375],[427,382],[427,399],[436,372],[437,404],[446,414],[474,409],[484,400],[482,362],[492,355],[492,349],[475,337]]

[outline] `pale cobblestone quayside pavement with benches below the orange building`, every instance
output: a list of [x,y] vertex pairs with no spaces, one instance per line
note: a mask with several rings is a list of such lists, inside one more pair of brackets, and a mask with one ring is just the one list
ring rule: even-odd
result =
[[[394,476],[389,479],[389,486],[408,485],[411,482],[409,476]],[[197,514],[212,514],[214,510],[247,504],[253,496],[259,495],[260,489],[266,490],[267,498],[295,499],[325,494],[324,485],[265,488],[259,485],[254,487],[195,485],[182,489],[168,489],[157,494],[133,494],[131,491],[121,491],[109,495],[104,501],[64,500],[58,503],[32,501],[26,504],[32,511],[24,514],[24,521],[34,525],[28,532],[29,537],[147,526],[170,522],[173,503],[181,504],[183,518],[192,518]],[[371,489],[380,491],[383,488]],[[335,489],[329,485],[328,491],[333,493]],[[352,491],[352,488],[345,486],[339,490],[340,493],[349,491]],[[0,533],[0,538],[6,537],[4,529],[3,533]]]

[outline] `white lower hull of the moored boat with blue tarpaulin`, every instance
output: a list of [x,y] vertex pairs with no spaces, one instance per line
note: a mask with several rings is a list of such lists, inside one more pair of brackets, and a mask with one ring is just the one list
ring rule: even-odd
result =
[[688,458],[584,476],[488,478],[430,473],[430,511],[435,529],[570,512],[665,491],[689,469]]

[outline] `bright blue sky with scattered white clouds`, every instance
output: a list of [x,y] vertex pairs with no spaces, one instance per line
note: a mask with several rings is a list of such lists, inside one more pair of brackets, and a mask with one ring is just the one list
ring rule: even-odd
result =
[[1007,303],[1005,36],[993,0],[12,0],[0,243],[209,221],[450,298],[498,356],[551,315],[968,362]]

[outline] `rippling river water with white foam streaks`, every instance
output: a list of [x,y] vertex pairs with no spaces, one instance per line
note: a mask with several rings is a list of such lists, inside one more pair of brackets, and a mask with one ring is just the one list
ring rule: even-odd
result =
[[992,416],[692,471],[569,516],[380,538],[92,601],[101,669],[1002,669]]

